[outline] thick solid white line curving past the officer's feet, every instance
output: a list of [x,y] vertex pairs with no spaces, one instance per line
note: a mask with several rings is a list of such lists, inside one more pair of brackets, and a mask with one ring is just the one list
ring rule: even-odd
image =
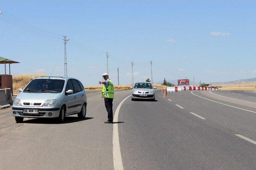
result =
[[[132,95],[130,95],[132,96]],[[114,115],[113,122],[118,122],[118,114],[119,110],[124,103],[126,99],[128,99],[130,96],[127,96],[122,102],[118,105],[116,108],[116,112]],[[120,144],[119,144],[119,135],[118,135],[118,123],[113,124],[113,161],[114,161],[114,169],[116,170],[123,170],[123,162],[122,162],[122,156],[121,156],[121,150],[120,150]]]

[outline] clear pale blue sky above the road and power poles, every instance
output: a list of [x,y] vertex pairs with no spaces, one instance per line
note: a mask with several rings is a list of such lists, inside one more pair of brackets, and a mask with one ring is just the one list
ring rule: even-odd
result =
[[[151,60],[154,82],[193,76],[196,82],[252,78],[256,77],[255,9],[255,1],[244,0],[2,0],[0,56],[20,62],[11,65],[13,75],[49,75],[56,68],[53,75],[63,76],[61,35],[67,35],[68,76],[84,85],[102,80],[107,51],[114,84],[117,67],[120,84],[132,82],[131,61],[135,81],[151,79]],[[9,20],[10,14],[38,28],[27,25],[24,31]],[[36,35],[28,32],[31,29]],[[4,65],[0,73],[4,74]]]

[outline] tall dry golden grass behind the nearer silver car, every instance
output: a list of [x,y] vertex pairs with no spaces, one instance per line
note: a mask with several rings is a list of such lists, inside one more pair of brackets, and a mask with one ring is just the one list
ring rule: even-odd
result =
[[19,88],[24,88],[31,80],[39,76],[46,76],[42,73],[35,73],[35,74],[19,74],[12,77],[13,82],[13,93],[17,95]]

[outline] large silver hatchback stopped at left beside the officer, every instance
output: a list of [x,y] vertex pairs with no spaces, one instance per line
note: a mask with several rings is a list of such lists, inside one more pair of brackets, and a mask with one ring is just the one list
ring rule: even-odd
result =
[[38,77],[15,98],[12,114],[17,123],[24,117],[56,117],[60,123],[65,116],[86,116],[87,97],[82,83],[70,77]]

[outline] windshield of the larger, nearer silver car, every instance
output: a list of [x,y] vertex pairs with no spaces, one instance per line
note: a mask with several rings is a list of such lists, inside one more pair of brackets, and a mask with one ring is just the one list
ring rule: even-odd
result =
[[60,93],[65,80],[35,79],[32,80],[23,92]]

